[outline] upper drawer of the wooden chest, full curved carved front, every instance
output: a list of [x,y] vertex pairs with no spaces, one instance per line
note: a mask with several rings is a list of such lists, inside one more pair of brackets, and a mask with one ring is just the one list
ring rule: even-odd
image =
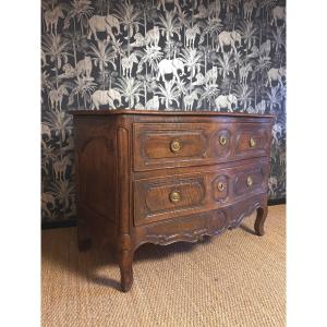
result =
[[134,123],[135,171],[269,156],[271,125],[246,122]]

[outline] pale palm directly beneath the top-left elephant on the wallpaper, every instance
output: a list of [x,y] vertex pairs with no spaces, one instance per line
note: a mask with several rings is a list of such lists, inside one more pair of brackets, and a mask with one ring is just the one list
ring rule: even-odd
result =
[[[108,66],[110,63],[113,66],[113,70],[117,69],[114,60],[117,59],[117,52],[112,49],[112,47],[108,47],[108,43],[98,40],[97,46],[89,45],[89,48],[92,49],[92,55],[94,55],[96,58],[94,58],[95,66],[98,66],[100,70],[100,73],[104,76],[105,80],[105,68]],[[105,85],[104,85],[105,86]]]

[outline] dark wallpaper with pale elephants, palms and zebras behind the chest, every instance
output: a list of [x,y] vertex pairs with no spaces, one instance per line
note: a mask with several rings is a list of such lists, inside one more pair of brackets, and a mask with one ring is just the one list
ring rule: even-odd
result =
[[275,113],[284,198],[284,0],[43,0],[43,222],[75,219],[68,111],[117,108]]

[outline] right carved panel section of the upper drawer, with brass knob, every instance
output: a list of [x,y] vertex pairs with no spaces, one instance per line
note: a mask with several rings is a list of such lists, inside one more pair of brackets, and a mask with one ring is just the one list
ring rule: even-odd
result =
[[270,124],[241,124],[235,131],[234,156],[237,158],[269,156]]

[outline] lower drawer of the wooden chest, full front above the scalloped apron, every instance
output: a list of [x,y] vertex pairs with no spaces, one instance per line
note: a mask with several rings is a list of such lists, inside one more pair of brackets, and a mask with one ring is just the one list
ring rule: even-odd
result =
[[[213,169],[213,168],[211,168]],[[267,192],[268,162],[134,181],[134,225],[216,209]]]

